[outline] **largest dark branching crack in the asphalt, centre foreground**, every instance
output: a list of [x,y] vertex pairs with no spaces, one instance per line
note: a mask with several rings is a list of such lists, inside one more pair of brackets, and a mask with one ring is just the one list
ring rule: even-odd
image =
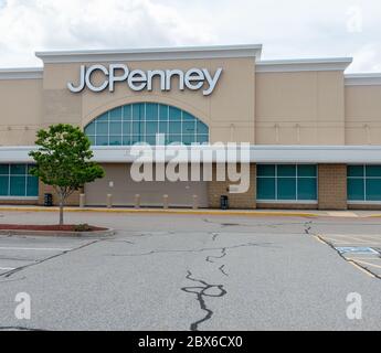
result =
[[[200,286],[194,286],[194,287],[182,287],[181,290],[187,292],[187,293],[192,293],[192,295],[195,295],[195,298],[200,304],[200,308],[201,310],[203,310],[205,312],[205,315],[195,321],[195,322],[192,322],[190,324],[190,330],[191,331],[199,331],[199,325],[208,320],[210,320],[213,315],[213,311],[207,307],[207,303],[205,303],[205,297],[209,297],[209,298],[222,298],[223,296],[225,296],[227,292],[226,290],[223,288],[223,285],[210,285],[208,284],[207,281],[202,280],[202,279],[197,279],[197,278],[192,278],[193,274],[188,270],[188,275],[187,275],[187,279],[188,280],[191,280],[193,282],[197,282],[199,284]],[[218,289],[219,290],[219,293],[211,293],[211,292],[208,292],[210,291],[211,289]]]

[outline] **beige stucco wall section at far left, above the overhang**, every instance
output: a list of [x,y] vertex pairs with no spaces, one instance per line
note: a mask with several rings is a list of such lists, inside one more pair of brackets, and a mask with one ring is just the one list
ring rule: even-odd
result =
[[0,146],[34,143],[42,116],[42,79],[0,79]]

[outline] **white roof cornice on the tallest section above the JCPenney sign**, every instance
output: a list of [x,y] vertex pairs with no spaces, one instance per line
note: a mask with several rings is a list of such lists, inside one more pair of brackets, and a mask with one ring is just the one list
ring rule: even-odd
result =
[[260,58],[262,44],[178,46],[128,50],[88,50],[36,52],[44,63],[110,62],[110,61],[152,61],[253,57]]

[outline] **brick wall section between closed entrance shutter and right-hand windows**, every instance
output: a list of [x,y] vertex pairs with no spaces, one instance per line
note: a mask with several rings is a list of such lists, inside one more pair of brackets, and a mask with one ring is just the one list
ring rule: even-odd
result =
[[[240,170],[240,169],[239,169]],[[227,170],[226,170],[227,172]],[[246,175],[247,176],[247,175]],[[229,196],[231,208],[256,208],[256,165],[250,165],[250,188],[245,193],[230,193],[229,186],[239,184],[237,182],[216,181],[216,164],[213,164],[213,181],[208,182],[208,200],[209,206],[212,208],[220,207],[220,196]]]

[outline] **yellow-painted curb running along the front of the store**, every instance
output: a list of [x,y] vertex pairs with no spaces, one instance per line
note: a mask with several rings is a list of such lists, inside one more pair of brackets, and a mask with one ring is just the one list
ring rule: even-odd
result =
[[[59,212],[57,207],[0,207],[1,211],[14,212]],[[309,212],[266,212],[266,211],[219,211],[219,210],[157,210],[157,208],[97,208],[97,207],[65,207],[65,212],[98,212],[98,213],[126,213],[126,214],[184,214],[184,215],[230,215],[230,216],[289,216],[289,217],[319,217],[322,215]]]

